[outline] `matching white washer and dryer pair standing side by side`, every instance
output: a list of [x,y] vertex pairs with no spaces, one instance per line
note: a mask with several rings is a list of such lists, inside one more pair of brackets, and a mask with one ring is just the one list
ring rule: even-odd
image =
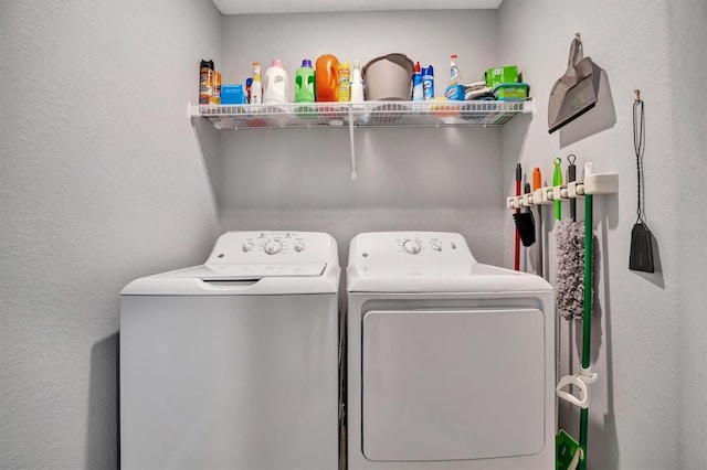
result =
[[553,467],[544,279],[422,232],[357,235],[347,274],[344,313],[333,237],[229,232],[204,265],[130,282],[122,466]]

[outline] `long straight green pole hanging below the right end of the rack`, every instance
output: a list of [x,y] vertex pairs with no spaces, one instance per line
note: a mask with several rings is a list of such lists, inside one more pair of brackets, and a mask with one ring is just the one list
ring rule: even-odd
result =
[[[582,318],[582,368],[589,368],[591,362],[592,339],[592,195],[584,195],[584,317]],[[587,431],[589,428],[589,408],[582,408],[579,417],[579,445],[584,456],[579,469],[587,469]]]

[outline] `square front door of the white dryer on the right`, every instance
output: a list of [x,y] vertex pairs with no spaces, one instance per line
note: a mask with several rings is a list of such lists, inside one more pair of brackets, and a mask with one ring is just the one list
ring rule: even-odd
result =
[[362,332],[369,460],[525,456],[552,445],[540,310],[373,310]]

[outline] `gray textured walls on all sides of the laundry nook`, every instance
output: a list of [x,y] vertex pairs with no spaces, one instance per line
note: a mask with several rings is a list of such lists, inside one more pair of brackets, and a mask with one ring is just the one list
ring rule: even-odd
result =
[[[506,0],[498,13],[434,13],[439,28],[428,13],[365,17],[387,20],[394,29],[386,32],[382,24],[361,30],[360,21],[340,28],[336,15],[221,19],[198,0],[4,2],[2,83],[23,86],[0,92],[10,110],[0,117],[1,467],[115,466],[118,292],[135,277],[201,263],[219,221],[223,228],[324,229],[345,249],[361,231],[458,231],[477,258],[508,266],[510,214],[502,206],[515,162],[542,164],[547,175],[552,156],[574,152],[621,173],[620,194],[595,209],[602,270],[593,352],[601,376],[591,466],[705,468],[706,197],[704,184],[693,182],[706,175],[706,99],[704,87],[671,75],[682,65],[690,83],[705,82],[705,4],[563,3]],[[320,19],[326,49],[307,50],[305,33],[287,29]],[[460,28],[447,28],[456,21]],[[547,136],[544,97],[574,31],[606,70],[616,124],[560,148],[558,136]],[[382,40],[390,32],[394,43]],[[201,57],[214,58],[225,83],[242,82],[254,58],[266,66],[279,55],[293,70],[303,53],[365,63],[393,51],[419,54],[413,58],[433,63],[442,81],[452,52],[471,76],[517,63],[538,97],[537,114],[503,131],[359,132],[355,182],[346,132],[218,135],[199,126],[194,135],[186,119]],[[648,222],[663,266],[654,276],[626,269],[635,87],[648,117]],[[564,357],[574,351],[576,360],[573,335],[563,338]],[[562,413],[573,426],[572,412]]]

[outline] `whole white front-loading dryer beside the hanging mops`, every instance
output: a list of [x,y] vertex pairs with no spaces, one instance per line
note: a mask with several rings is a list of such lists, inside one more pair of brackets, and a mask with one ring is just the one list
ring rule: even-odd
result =
[[555,308],[542,278],[454,233],[350,245],[349,469],[553,469]]

